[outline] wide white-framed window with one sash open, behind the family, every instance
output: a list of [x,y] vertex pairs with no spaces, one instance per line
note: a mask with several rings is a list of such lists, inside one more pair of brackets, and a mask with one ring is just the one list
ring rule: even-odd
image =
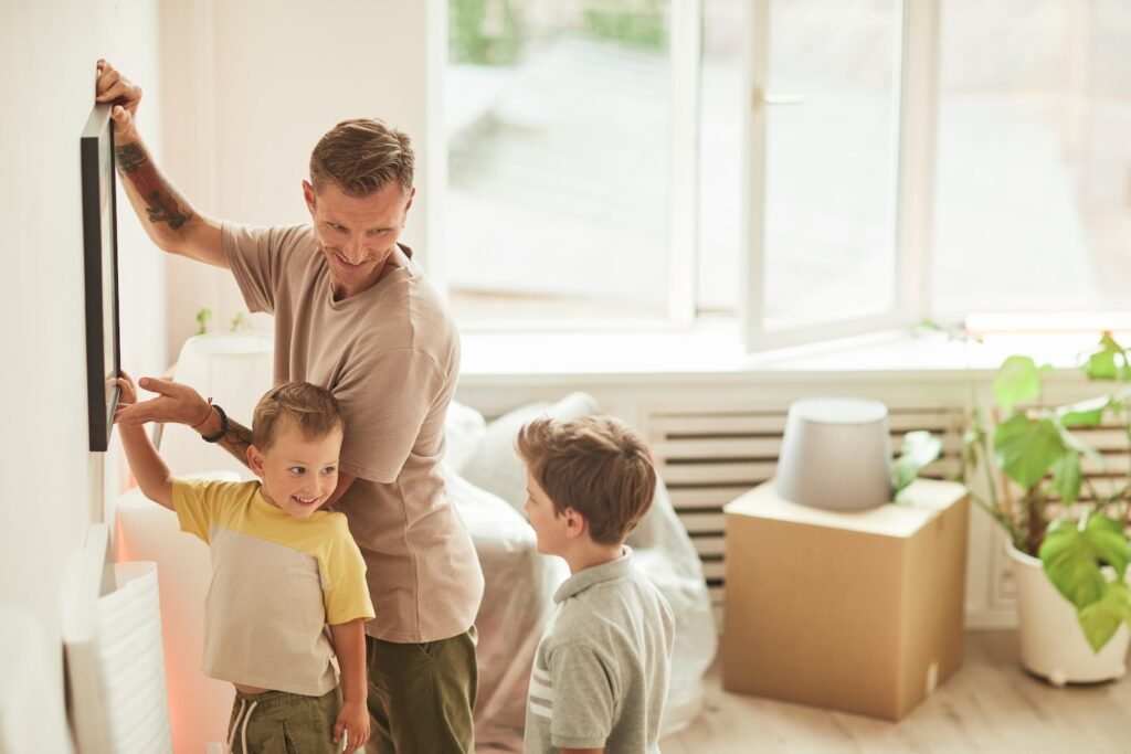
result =
[[465,323],[751,350],[1131,291],[1121,0],[449,0]]

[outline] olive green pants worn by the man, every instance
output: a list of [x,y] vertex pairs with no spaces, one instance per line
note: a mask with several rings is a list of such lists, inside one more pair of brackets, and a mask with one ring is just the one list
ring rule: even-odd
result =
[[423,644],[365,636],[370,754],[470,754],[478,688],[475,626]]

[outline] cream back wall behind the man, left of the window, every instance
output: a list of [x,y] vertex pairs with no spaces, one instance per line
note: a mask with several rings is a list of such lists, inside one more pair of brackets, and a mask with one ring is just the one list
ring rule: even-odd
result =
[[[302,223],[310,151],[347,118],[378,116],[406,131],[417,150],[417,198],[405,242],[428,265],[429,227],[446,156],[425,148],[439,129],[429,44],[444,44],[443,0],[166,0],[161,86],[169,157],[163,168],[201,211],[249,224]],[[440,26],[439,28],[443,28]],[[437,159],[432,159],[437,157]],[[180,262],[180,260],[175,260]],[[244,309],[225,272],[171,265],[170,357],[213,306],[226,327]],[[174,287],[176,288],[174,291]]]

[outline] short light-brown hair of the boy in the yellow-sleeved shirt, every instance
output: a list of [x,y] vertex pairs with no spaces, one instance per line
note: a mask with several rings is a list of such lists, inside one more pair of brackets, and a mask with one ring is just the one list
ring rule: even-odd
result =
[[345,430],[342,407],[329,390],[309,382],[287,382],[267,391],[256,404],[251,442],[265,451],[285,427],[296,427],[307,440],[319,440]]

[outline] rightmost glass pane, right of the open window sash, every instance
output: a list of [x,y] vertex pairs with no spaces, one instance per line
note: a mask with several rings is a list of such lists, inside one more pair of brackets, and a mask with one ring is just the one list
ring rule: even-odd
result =
[[1128,50],[1124,0],[944,0],[940,313],[1126,309]]

